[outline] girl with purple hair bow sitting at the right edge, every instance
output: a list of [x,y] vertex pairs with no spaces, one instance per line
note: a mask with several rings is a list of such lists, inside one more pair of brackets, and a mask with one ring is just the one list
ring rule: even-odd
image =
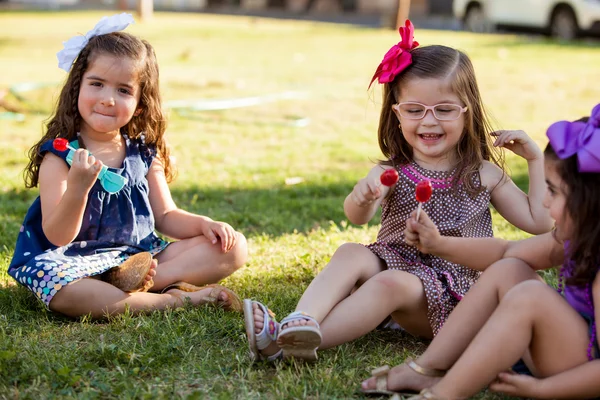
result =
[[[556,220],[552,233],[515,242],[451,238],[440,236],[424,214],[409,220],[407,242],[422,252],[476,269],[495,264],[427,351],[409,362],[413,368],[393,368],[387,385],[380,374],[382,388],[429,388],[414,399],[462,399],[491,382],[492,390],[518,397],[600,396],[600,104],[587,123],[557,122],[547,134],[544,205]],[[557,265],[563,296],[534,272]],[[520,358],[525,374],[506,372]],[[375,384],[370,379],[363,390]]]

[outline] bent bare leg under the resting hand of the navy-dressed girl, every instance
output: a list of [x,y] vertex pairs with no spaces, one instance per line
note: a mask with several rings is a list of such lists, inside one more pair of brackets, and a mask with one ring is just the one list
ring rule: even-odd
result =
[[227,253],[220,243],[212,244],[206,237],[197,236],[171,243],[156,257],[158,267],[152,291],[184,281],[193,285],[216,283],[228,277],[246,262],[246,238],[237,233],[237,242]]

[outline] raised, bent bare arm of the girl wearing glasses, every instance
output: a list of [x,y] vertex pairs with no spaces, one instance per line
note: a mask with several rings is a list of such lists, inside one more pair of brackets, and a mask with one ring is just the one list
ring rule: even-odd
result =
[[527,161],[529,190],[528,194],[523,193],[500,168],[484,162],[481,180],[492,193],[492,204],[519,229],[536,235],[549,232],[554,222],[543,205],[546,183],[542,151],[523,131],[499,131],[494,135],[497,136],[494,146],[507,148]]

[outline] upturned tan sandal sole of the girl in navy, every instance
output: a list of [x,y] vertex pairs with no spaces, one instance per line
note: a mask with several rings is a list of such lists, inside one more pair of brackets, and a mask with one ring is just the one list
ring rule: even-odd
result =
[[137,253],[127,258],[121,265],[102,273],[100,279],[127,293],[147,292],[154,285],[152,279],[146,281],[151,268],[152,254]]

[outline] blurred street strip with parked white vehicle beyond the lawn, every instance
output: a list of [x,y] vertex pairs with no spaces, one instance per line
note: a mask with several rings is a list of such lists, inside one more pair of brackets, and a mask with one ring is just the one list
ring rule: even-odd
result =
[[433,29],[510,30],[561,40],[600,34],[600,0],[0,0],[0,11],[18,9],[137,9],[143,17],[187,11],[390,28],[410,16]]

